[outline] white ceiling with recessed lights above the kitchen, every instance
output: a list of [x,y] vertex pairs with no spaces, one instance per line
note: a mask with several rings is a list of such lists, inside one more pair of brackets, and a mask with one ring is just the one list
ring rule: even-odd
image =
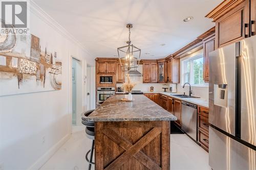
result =
[[[117,47],[128,40],[126,23],[132,23],[132,43],[142,59],[173,54],[214,27],[204,16],[222,0],[34,0],[66,28],[92,57],[117,57]],[[184,22],[187,16],[194,19]],[[165,45],[160,45],[165,44]],[[150,54],[145,54],[150,53]]]

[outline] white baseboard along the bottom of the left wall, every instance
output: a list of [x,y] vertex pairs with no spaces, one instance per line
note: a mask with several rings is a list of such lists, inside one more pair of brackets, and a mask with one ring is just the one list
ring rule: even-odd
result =
[[71,134],[67,134],[62,139],[60,139],[56,144],[53,145],[44,155],[42,155],[37,161],[32,164],[28,169],[39,169],[41,168],[58,149],[71,137]]

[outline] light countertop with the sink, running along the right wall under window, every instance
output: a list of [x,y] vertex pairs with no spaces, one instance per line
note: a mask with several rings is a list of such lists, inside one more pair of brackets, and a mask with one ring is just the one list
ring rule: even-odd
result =
[[160,94],[164,94],[164,95],[168,95],[171,96],[172,98],[176,98],[185,102],[189,102],[189,103],[193,103],[199,106],[203,106],[203,107],[207,107],[209,108],[209,102],[206,99],[202,99],[202,98],[179,98],[178,96],[172,95],[172,94],[177,94],[177,93],[170,93],[168,91],[164,92],[164,91],[143,91],[143,93],[160,93]]

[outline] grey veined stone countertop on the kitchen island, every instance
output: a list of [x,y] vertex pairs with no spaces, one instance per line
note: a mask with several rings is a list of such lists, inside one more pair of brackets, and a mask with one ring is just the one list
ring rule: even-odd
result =
[[123,102],[123,94],[112,95],[88,117],[90,122],[128,122],[177,120],[173,114],[164,110],[143,94],[134,94],[134,101]]

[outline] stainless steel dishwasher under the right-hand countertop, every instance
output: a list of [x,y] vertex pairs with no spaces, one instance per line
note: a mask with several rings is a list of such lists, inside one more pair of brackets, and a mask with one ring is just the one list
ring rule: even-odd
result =
[[197,141],[197,105],[182,101],[181,129]]

